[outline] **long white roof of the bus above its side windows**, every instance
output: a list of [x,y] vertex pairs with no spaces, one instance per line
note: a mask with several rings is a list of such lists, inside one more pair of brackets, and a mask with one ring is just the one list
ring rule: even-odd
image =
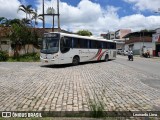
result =
[[59,33],[61,35],[64,36],[68,36],[68,37],[76,37],[76,38],[82,38],[82,39],[90,39],[90,40],[98,40],[98,41],[107,41],[107,42],[114,42],[113,40],[106,40],[106,39],[102,39],[102,38],[96,38],[96,37],[89,37],[89,36],[80,36],[80,35],[76,35],[76,34],[68,34],[68,33],[61,33],[61,32],[49,32],[49,33],[45,33],[45,34],[51,34],[51,33]]

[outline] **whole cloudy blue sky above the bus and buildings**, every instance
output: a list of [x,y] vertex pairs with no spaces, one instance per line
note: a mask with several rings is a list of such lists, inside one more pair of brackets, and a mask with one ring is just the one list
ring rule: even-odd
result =
[[[45,11],[48,7],[56,9],[56,1],[45,0]],[[17,13],[21,4],[31,4],[42,13],[42,0],[0,0],[0,16],[24,18],[23,12]],[[154,12],[159,8],[160,0],[60,0],[61,28],[72,32],[87,29],[96,35],[123,28],[156,29],[160,27],[160,14]],[[52,27],[52,18],[45,20],[46,27]],[[41,21],[38,27],[42,27]]]

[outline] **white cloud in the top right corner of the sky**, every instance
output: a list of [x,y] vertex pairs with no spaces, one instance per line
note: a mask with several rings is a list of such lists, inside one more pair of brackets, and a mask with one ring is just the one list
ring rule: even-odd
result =
[[150,10],[157,11],[160,8],[160,0],[124,0],[128,3],[134,4],[134,9],[140,11]]

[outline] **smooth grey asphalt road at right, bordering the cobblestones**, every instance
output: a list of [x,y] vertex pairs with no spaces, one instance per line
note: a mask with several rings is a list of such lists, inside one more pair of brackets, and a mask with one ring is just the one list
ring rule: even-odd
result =
[[134,61],[128,61],[127,56],[117,56],[115,62],[155,76],[141,81],[150,87],[160,89],[160,79],[156,78],[160,76],[160,59],[134,57]]

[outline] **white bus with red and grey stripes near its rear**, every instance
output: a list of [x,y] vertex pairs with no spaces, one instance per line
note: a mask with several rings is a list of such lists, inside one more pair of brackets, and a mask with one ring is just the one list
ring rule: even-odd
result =
[[116,58],[116,42],[59,32],[46,33],[40,59],[47,64],[78,65],[79,62]]

